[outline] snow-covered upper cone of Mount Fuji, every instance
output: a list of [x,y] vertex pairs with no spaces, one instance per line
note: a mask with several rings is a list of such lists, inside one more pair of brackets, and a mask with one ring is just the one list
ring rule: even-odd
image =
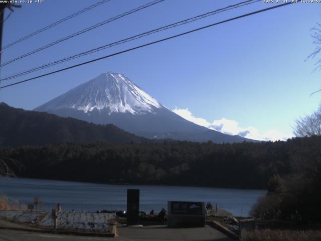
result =
[[85,82],[63,95],[39,106],[46,109],[73,108],[90,112],[106,109],[112,112],[140,114],[164,107],[152,96],[120,73],[107,72]]

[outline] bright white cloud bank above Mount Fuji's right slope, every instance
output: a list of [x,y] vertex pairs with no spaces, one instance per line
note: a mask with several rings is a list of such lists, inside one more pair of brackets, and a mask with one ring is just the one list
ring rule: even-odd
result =
[[237,121],[226,118],[221,118],[210,123],[204,118],[194,116],[188,108],[180,109],[176,107],[173,111],[190,122],[228,135],[239,135],[241,137],[261,141],[285,141],[292,137],[291,135],[282,134],[277,130],[260,132],[254,127],[242,128],[239,127]]

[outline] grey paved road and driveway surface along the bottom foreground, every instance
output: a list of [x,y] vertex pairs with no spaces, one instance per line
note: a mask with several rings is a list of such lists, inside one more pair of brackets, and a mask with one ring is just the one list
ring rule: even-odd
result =
[[23,232],[14,230],[0,230],[0,241],[76,241],[76,240],[114,240],[114,241],[231,241],[225,234],[218,230],[205,226],[205,228],[166,228],[164,226],[146,226],[144,228],[118,228],[119,237],[88,237],[59,234],[47,234],[37,232]]

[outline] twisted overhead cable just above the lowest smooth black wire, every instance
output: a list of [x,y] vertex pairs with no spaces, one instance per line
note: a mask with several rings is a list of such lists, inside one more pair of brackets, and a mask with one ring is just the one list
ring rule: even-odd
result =
[[202,14],[202,15],[198,15],[198,16],[193,17],[193,18],[185,19],[185,20],[182,20],[180,22],[176,22],[174,24],[170,24],[170,25],[166,25],[166,26],[163,26],[163,27],[160,27],[160,28],[157,28],[157,29],[153,29],[153,30],[150,30],[148,32],[144,32],[144,33],[141,33],[141,34],[138,34],[138,35],[126,38],[126,39],[122,39],[122,40],[119,40],[117,42],[113,42],[111,44],[106,44],[106,45],[100,46],[98,48],[87,50],[85,52],[82,52],[82,53],[79,53],[79,54],[76,54],[76,55],[73,55],[73,56],[69,56],[69,57],[66,57],[66,58],[63,58],[63,59],[60,59],[60,60],[45,64],[45,65],[41,65],[41,66],[26,70],[26,71],[22,71],[22,72],[19,72],[19,73],[16,73],[16,74],[12,74],[12,75],[9,75],[7,77],[4,77],[3,79],[0,79],[0,81],[13,79],[13,78],[25,75],[25,74],[29,74],[29,73],[32,73],[32,72],[35,72],[35,71],[38,71],[38,70],[41,70],[41,69],[45,69],[45,68],[48,68],[48,67],[51,67],[51,66],[54,66],[54,65],[57,65],[57,64],[60,64],[60,63],[75,59],[75,58],[79,58],[79,57],[82,57],[82,56],[85,56],[85,55],[88,55],[88,54],[92,54],[92,53],[95,53],[95,52],[98,52],[98,51],[101,51],[101,50],[104,50],[104,49],[107,49],[107,48],[110,48],[110,47],[113,47],[113,46],[116,46],[116,45],[119,45],[119,44],[130,42],[130,41],[145,37],[145,36],[150,35],[150,34],[161,32],[161,31],[164,31],[164,30],[167,30],[167,29],[171,29],[171,28],[180,26],[180,25],[188,24],[188,23],[191,23],[191,22],[194,22],[194,21],[197,21],[197,20],[212,16],[212,15],[221,13],[221,12],[225,12],[225,11],[228,11],[228,10],[231,10],[231,9],[239,8],[239,7],[242,7],[242,6],[245,6],[245,5],[249,5],[249,4],[253,4],[253,3],[256,3],[256,2],[260,2],[260,1],[261,0],[248,0],[248,1],[245,1],[245,2],[241,2],[239,4],[231,5],[231,6],[222,8],[222,9],[218,9],[218,10],[215,10],[215,11],[212,11],[212,12],[208,12],[208,13],[205,13],[205,14]]

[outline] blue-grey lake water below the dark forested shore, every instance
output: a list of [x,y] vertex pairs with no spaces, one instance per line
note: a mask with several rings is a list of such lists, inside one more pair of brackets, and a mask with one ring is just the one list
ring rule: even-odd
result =
[[140,189],[140,210],[149,212],[167,209],[167,201],[202,201],[218,204],[234,215],[248,216],[249,210],[265,190],[245,190],[207,187],[109,185],[57,180],[0,178],[0,193],[31,204],[34,197],[51,210],[58,202],[71,211],[126,210],[127,189]]

